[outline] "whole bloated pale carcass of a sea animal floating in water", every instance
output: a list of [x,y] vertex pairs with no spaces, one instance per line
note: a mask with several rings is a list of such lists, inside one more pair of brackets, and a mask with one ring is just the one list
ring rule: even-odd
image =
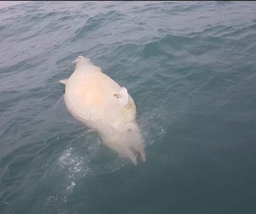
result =
[[137,164],[146,161],[144,142],[136,122],[136,105],[125,87],[121,87],[100,67],[79,56],[65,84],[65,103],[70,113],[95,129],[103,143]]

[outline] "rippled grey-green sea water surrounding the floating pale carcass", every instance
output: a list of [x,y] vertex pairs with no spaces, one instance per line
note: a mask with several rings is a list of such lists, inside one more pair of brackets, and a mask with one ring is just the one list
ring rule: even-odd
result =
[[[0,213],[256,213],[255,2],[28,2],[0,50]],[[132,95],[146,163],[67,111],[79,55]]]

